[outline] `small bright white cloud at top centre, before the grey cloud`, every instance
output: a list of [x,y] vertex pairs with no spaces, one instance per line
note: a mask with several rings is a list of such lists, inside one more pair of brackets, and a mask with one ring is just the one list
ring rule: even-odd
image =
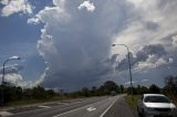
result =
[[83,3],[81,3],[77,9],[81,10],[81,9],[86,9],[87,11],[91,11],[93,12],[95,10],[95,7],[93,3],[91,3],[90,1],[84,1]]

